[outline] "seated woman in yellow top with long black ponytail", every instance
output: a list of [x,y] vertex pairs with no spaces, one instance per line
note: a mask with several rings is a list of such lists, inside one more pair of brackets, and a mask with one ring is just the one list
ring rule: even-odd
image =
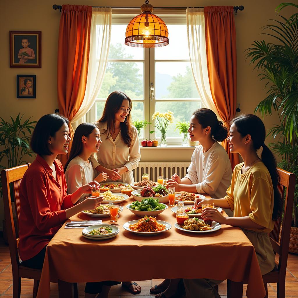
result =
[[[199,206],[214,203],[234,209],[234,217],[226,217],[215,208],[205,208],[201,216],[220,224],[239,226],[254,246],[262,275],[274,268],[275,255],[268,233],[282,212],[276,160],[264,143],[265,137],[265,126],[259,117],[245,114],[233,119],[228,137],[230,152],[239,153],[244,162],[234,168],[232,183],[224,198],[195,202]],[[187,297],[192,297],[193,292],[198,296],[205,293],[204,297],[220,297],[214,289],[219,282],[184,280]]]

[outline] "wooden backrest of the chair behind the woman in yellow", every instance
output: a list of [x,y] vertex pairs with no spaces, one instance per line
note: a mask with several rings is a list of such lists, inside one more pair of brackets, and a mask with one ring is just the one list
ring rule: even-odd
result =
[[[281,197],[284,199],[284,214],[283,220],[279,218],[275,221],[274,229],[269,234],[271,244],[274,252],[279,254],[278,269],[280,273],[286,271],[288,261],[288,250],[290,242],[290,230],[293,216],[293,202],[296,179],[295,175],[285,170],[277,168],[280,175],[280,183],[278,184],[278,190]],[[286,192],[285,192],[286,190]],[[280,232],[280,224],[282,228]]]

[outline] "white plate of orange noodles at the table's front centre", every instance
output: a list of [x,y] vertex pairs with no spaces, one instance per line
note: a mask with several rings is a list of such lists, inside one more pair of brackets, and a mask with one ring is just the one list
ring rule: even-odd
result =
[[127,231],[141,235],[153,235],[169,230],[172,226],[166,221],[158,221],[155,217],[145,216],[140,220],[129,221],[123,225]]

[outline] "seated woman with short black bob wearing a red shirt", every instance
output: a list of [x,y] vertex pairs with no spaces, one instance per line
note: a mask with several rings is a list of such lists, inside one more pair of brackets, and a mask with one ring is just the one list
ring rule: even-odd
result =
[[67,186],[58,154],[66,154],[69,146],[68,119],[48,114],[38,120],[31,138],[36,159],[20,184],[19,254],[22,265],[41,269],[46,246],[67,218],[82,210],[100,205],[103,197],[89,197],[74,205],[97,181],[66,194]]

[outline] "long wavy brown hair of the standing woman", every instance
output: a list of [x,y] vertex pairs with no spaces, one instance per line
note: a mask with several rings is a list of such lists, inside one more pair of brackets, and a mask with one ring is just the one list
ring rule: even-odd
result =
[[108,129],[106,132],[107,134],[106,139],[108,139],[112,135],[112,132],[115,132],[115,128],[116,128],[115,114],[119,111],[119,109],[122,106],[122,102],[125,99],[129,101],[129,113],[125,117],[125,121],[120,122],[121,136],[125,144],[128,147],[131,147],[132,139],[133,139],[133,132],[131,129],[131,117],[130,117],[132,102],[131,102],[131,99],[125,93],[120,91],[114,91],[108,96],[105,102],[105,107],[103,109],[103,115],[97,122],[108,122]]

